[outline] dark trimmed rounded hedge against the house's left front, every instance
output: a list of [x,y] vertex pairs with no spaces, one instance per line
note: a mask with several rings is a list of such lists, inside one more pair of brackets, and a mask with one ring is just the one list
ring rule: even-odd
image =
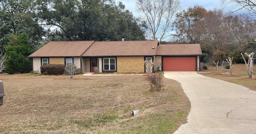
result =
[[62,64],[49,64],[49,65],[44,65],[40,67],[42,74],[54,74],[54,75],[64,74],[64,68],[65,66]]

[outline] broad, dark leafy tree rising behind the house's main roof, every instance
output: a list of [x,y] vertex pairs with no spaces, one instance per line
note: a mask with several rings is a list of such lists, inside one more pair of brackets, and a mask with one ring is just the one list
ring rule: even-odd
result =
[[37,0],[39,24],[50,40],[144,40],[124,4],[112,0]]

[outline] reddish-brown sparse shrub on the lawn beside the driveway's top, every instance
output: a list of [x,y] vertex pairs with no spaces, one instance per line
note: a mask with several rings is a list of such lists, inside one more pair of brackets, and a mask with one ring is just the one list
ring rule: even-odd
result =
[[164,86],[163,75],[162,74],[149,74],[148,82],[150,84],[151,92],[160,90]]

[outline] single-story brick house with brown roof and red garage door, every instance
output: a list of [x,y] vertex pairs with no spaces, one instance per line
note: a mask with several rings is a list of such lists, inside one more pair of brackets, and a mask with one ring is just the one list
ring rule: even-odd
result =
[[155,60],[153,71],[199,71],[200,44],[160,44],[143,41],[49,42],[29,57],[33,71],[46,64],[74,64],[82,72],[146,72],[144,60]]

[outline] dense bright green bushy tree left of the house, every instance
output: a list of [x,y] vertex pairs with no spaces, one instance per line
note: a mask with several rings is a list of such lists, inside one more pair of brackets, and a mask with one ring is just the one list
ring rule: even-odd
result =
[[32,70],[32,60],[28,56],[34,51],[28,44],[25,33],[18,36],[11,35],[8,45],[5,45],[4,49],[8,56],[8,59],[4,62],[7,65],[6,73],[26,73]]

